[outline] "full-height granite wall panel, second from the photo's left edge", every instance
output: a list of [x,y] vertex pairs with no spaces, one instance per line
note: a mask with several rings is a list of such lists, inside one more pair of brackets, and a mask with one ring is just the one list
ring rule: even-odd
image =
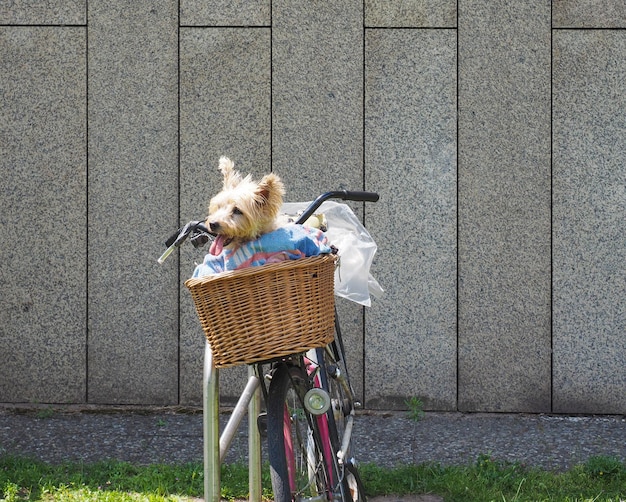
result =
[[89,5],[89,402],[178,402],[175,2]]

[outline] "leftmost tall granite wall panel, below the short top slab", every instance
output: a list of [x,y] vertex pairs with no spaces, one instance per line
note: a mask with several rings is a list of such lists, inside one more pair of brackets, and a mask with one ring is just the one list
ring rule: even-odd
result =
[[86,399],[86,35],[0,27],[0,402]]

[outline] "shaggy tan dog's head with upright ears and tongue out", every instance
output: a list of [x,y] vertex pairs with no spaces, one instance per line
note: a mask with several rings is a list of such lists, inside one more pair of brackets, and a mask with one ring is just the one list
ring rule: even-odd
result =
[[242,178],[234,163],[220,159],[224,188],[211,199],[207,226],[217,237],[212,254],[220,254],[224,246],[256,239],[275,228],[275,220],[285,193],[280,178],[264,176],[258,183],[250,175]]

